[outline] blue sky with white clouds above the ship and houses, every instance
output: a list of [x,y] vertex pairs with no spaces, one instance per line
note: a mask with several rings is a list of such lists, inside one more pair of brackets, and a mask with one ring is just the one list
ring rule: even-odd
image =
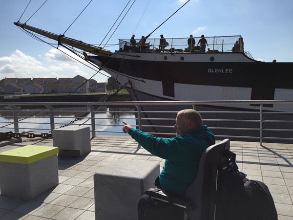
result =
[[[56,49],[56,42],[43,38],[53,46],[40,42],[13,22],[88,44],[106,43],[105,48],[114,51],[119,49],[118,39],[148,35],[187,1],[0,0],[0,79],[81,75],[106,82],[108,78],[65,55],[62,51],[69,52],[63,47]],[[189,0],[149,38],[241,35],[244,50],[255,60],[293,62],[292,9],[293,0]]]

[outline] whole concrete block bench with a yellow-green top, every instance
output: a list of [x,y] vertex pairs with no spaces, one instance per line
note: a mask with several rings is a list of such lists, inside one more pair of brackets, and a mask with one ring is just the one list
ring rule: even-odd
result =
[[0,153],[1,195],[32,199],[59,183],[58,147],[28,145]]

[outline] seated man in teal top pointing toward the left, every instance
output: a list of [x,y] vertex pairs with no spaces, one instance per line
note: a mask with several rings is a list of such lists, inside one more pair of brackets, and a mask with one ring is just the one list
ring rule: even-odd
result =
[[[133,129],[123,122],[123,132],[129,133],[142,147],[155,156],[166,159],[165,166],[157,177],[155,185],[167,192],[184,197],[188,186],[197,175],[202,153],[215,143],[208,127],[202,125],[202,118],[196,110],[181,110],[177,113],[174,129],[176,137],[159,138],[152,134]],[[154,199],[143,195],[138,202],[139,220],[145,220],[146,209],[157,206]],[[162,209],[163,210],[163,209]],[[167,215],[162,211],[162,216]]]

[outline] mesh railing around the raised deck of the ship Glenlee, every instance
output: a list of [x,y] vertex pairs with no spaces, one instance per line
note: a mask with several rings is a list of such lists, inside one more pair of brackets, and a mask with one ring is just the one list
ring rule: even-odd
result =
[[[193,37],[195,46],[201,37]],[[147,38],[147,49],[141,48],[138,44],[141,39],[135,39],[136,45],[131,46],[130,39],[119,39],[119,48],[121,50],[132,51],[148,51],[148,52],[201,52],[199,49],[188,46],[188,38],[165,38],[168,45],[164,49],[160,49],[160,38]],[[232,48],[236,41],[238,41],[238,49],[236,52],[243,52],[243,39],[241,35],[235,36],[219,36],[219,37],[205,37],[208,42],[206,52],[232,52]]]

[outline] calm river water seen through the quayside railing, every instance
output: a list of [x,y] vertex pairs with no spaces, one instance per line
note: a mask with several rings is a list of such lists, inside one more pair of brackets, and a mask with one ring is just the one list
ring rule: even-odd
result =
[[[68,124],[91,123],[86,107],[55,108],[55,129]],[[119,111],[119,112],[114,112]],[[135,125],[135,114],[131,108],[107,108],[95,114],[96,135],[127,135],[122,132],[123,123]],[[87,114],[87,115],[86,115]],[[19,132],[50,132],[49,111],[21,108],[19,111]],[[78,120],[76,120],[78,118]],[[14,132],[14,117],[11,109],[0,109],[0,132]],[[71,123],[72,122],[72,123]],[[91,128],[90,128],[91,129]],[[119,133],[117,133],[119,132]]]

